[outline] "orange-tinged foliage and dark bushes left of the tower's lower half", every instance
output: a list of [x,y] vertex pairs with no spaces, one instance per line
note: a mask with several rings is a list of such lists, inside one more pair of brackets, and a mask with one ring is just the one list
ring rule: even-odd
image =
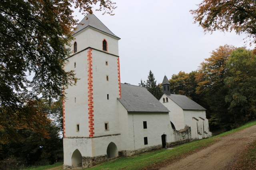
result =
[[[60,133],[63,130],[62,123],[62,100],[49,103],[41,99],[30,102],[28,108],[34,109],[41,115],[33,119],[34,123],[41,121],[38,129],[44,129],[40,133],[27,127],[16,129],[11,140],[0,140],[0,167],[3,169],[15,169],[22,166],[53,164],[56,160],[63,159],[63,144]],[[49,119],[49,117],[52,118]],[[2,137],[9,137],[1,131]]]

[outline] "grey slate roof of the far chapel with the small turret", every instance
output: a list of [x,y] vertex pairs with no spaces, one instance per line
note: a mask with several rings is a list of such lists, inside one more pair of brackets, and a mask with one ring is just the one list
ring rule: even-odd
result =
[[167,96],[183,110],[206,110],[204,107],[200,106],[187,96],[178,94],[171,94]]

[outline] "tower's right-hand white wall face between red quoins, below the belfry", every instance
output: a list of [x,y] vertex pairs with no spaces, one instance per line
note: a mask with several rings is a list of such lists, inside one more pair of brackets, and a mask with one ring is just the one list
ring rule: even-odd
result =
[[[108,65],[106,66],[106,61]],[[117,57],[92,50],[94,135],[120,133],[118,115],[118,66]],[[108,76],[108,81],[106,79]],[[109,99],[107,99],[107,94]],[[105,131],[104,123],[109,123]]]

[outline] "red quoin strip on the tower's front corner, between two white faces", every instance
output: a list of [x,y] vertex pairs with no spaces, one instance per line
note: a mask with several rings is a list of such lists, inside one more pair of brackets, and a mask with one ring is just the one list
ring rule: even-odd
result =
[[89,137],[94,136],[94,109],[93,109],[93,88],[92,88],[92,49],[87,51],[87,77],[88,77],[88,123],[89,123]]

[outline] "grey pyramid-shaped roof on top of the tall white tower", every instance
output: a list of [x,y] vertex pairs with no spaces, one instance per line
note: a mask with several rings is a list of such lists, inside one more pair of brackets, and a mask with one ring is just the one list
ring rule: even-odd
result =
[[73,31],[73,33],[76,34],[88,26],[98,29],[104,33],[107,33],[109,35],[112,35],[120,39],[118,36],[114,35],[114,33],[112,33],[94,14],[90,14],[90,13],[88,13],[87,16],[85,16],[84,19],[82,19],[80,24],[76,26],[76,30]]

